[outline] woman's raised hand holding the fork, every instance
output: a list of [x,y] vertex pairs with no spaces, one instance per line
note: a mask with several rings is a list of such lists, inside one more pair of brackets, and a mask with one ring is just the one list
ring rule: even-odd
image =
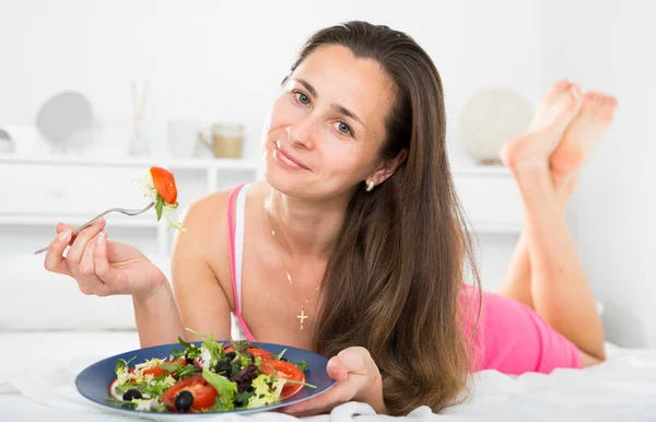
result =
[[44,266],[48,271],[72,277],[80,291],[89,295],[144,297],[166,283],[162,271],[143,254],[126,244],[108,242],[104,228],[105,220],[98,220],[71,243],[74,227],[58,224],[58,235],[48,246]]

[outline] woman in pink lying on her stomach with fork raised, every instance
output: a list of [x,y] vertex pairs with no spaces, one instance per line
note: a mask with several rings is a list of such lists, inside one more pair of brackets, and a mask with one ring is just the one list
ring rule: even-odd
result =
[[301,51],[265,124],[266,181],[188,208],[173,289],[138,250],[108,242],[104,222],[66,257],[72,227],[60,224],[45,266],[85,294],[132,295],[142,347],[192,338],[185,327],[227,339],[232,313],[251,340],[331,356],[337,386],[289,412],[349,400],[380,413],[438,411],[461,397],[470,370],[604,360],[562,210],[611,103],[561,82],[504,149],[526,206],[506,296],[481,301],[464,284],[465,259],[476,267],[437,70],[409,36],[363,22],[323,30]]

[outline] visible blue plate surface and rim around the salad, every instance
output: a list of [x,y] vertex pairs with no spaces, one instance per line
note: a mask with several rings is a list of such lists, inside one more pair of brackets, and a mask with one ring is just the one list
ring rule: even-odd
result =
[[[224,343],[225,343],[225,341],[224,341]],[[194,344],[196,344],[197,347],[200,347],[201,342],[198,341],[198,342],[195,342]],[[288,397],[286,399],[280,400],[276,405],[265,406],[265,407],[255,408],[255,409],[239,409],[239,410],[233,410],[231,412],[222,412],[222,413],[254,413],[254,412],[261,412],[261,411],[266,411],[266,410],[281,408],[284,406],[289,406],[292,403],[297,403],[297,402],[307,400],[311,397],[318,396],[335,385],[335,380],[332,378],[330,378],[330,376],[328,376],[328,373],[326,372],[326,365],[328,364],[328,359],[326,359],[325,356],[321,356],[321,355],[313,353],[313,352],[308,352],[303,349],[290,348],[290,347],[280,345],[280,344],[258,343],[258,342],[253,342],[251,344],[259,345],[260,348],[268,350],[276,355],[278,355],[280,352],[282,352],[284,349],[286,349],[286,352],[284,352],[283,357],[286,357],[294,363],[297,363],[301,361],[307,361],[308,371],[305,372],[305,377],[307,378],[306,383],[315,385],[315,386],[317,386],[317,388],[314,389],[314,388],[309,388],[309,387],[303,387],[300,391],[297,391],[293,396]],[[86,397],[89,400],[94,401],[97,405],[102,405],[104,407],[114,409],[114,410],[130,412],[130,413],[148,413],[148,414],[157,414],[157,415],[168,414],[168,415],[175,415],[175,417],[180,415],[178,413],[160,413],[160,412],[155,413],[155,412],[150,412],[150,411],[145,411],[145,410],[122,409],[115,405],[107,403],[107,401],[106,401],[110,397],[109,385],[112,384],[112,382],[114,382],[114,379],[116,379],[116,374],[114,373],[114,367],[116,366],[117,360],[124,359],[126,361],[129,361],[129,360],[133,359],[132,362],[130,362],[130,366],[132,366],[137,363],[141,363],[141,362],[145,361],[147,359],[153,359],[153,357],[168,359],[168,356],[171,355],[171,352],[176,347],[178,349],[180,348],[179,344],[172,343],[172,344],[156,345],[156,347],[145,348],[145,349],[138,349],[138,350],[133,350],[130,352],[126,352],[126,353],[121,353],[121,354],[117,354],[115,356],[104,359],[104,360],[98,361],[98,362],[94,363],[93,365],[86,367],[85,370],[83,370],[75,378],[75,386],[78,387],[78,390],[80,391],[80,394],[82,396]],[[184,415],[189,415],[189,414],[198,415],[198,414],[215,414],[215,413],[184,413]]]

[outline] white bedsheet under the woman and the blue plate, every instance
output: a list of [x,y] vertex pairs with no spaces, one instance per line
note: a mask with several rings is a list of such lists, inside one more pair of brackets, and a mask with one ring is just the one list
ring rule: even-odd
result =
[[[138,349],[136,332],[0,333],[0,421],[129,421],[75,390],[79,371],[99,359]],[[656,351],[609,348],[604,365],[550,375],[475,377],[468,403],[443,414],[425,407],[395,420],[411,421],[656,421]],[[156,417],[154,417],[156,418]],[[167,418],[171,420],[171,418]],[[186,419],[185,419],[186,420]],[[282,413],[203,420],[297,422]],[[347,403],[312,422],[383,421],[362,403]]]

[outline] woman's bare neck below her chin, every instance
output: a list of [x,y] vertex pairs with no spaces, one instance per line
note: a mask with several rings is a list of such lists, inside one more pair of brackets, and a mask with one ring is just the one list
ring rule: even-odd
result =
[[292,257],[326,258],[337,241],[349,199],[300,200],[271,189],[266,207],[277,241]]

